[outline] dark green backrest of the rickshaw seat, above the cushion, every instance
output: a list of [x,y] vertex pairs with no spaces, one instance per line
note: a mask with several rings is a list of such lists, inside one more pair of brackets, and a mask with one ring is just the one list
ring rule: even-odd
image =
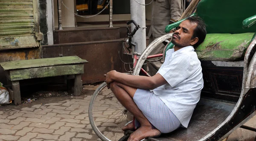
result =
[[244,19],[256,14],[256,0],[201,0],[197,14],[207,25],[207,33],[256,32],[256,25],[242,28]]

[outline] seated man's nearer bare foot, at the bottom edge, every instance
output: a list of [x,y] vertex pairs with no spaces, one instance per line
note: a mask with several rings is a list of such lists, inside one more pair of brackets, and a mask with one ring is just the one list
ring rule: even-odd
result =
[[127,141],[140,141],[148,137],[158,137],[161,132],[158,129],[152,129],[151,126],[142,126],[134,131]]

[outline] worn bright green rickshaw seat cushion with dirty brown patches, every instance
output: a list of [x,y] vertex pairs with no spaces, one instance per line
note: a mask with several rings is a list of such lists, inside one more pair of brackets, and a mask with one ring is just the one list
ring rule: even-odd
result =
[[202,60],[238,60],[243,57],[253,35],[254,33],[207,34],[195,52]]

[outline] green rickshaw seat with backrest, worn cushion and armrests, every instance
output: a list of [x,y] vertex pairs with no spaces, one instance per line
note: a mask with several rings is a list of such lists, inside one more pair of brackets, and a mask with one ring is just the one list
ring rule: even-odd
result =
[[[256,0],[201,0],[196,13],[191,15],[201,17],[207,29],[204,42],[195,49],[198,58],[219,61],[242,60],[247,46],[256,35],[255,6]],[[179,26],[183,20],[166,26],[166,33]],[[165,52],[173,46],[169,43]]]

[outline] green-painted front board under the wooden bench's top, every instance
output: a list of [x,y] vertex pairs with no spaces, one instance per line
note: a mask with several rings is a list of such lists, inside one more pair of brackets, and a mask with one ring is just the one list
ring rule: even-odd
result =
[[75,75],[84,73],[84,64],[47,66],[30,69],[17,69],[10,71],[10,80],[18,81],[30,78],[45,78],[61,75]]

